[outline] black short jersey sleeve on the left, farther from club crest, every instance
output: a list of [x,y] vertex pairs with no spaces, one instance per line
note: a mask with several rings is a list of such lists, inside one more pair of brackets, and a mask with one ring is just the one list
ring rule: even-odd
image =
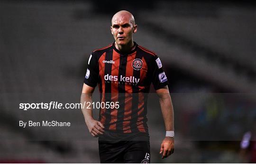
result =
[[91,53],[88,59],[88,66],[86,69],[86,74],[83,82],[94,88],[97,85],[98,79],[99,79],[99,63],[96,58],[96,54]]

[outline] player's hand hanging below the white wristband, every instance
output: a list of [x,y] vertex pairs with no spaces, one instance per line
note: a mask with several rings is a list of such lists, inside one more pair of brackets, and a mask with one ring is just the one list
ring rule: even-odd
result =
[[174,153],[174,138],[173,137],[165,137],[161,144],[160,154],[162,154],[162,159]]

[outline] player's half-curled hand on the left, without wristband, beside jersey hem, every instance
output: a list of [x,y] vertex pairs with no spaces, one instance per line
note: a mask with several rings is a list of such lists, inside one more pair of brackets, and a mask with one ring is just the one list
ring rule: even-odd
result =
[[99,137],[99,135],[103,135],[104,133],[104,126],[100,121],[96,121],[95,119],[90,119],[85,121],[86,125],[93,137]]

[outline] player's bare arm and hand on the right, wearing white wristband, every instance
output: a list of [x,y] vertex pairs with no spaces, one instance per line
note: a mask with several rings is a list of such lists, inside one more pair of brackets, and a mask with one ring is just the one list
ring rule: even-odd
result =
[[[165,130],[174,131],[174,109],[172,99],[166,85],[164,88],[156,90],[159,96],[159,102],[165,121]],[[162,158],[174,153],[174,137],[165,137],[161,144],[160,154],[163,153]]]

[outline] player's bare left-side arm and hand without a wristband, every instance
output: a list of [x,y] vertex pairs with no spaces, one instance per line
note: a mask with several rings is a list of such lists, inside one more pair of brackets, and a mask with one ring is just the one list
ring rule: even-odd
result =
[[[92,93],[94,91],[93,87],[90,87],[89,85],[86,85],[83,83],[82,87],[82,94],[81,94],[81,103],[84,104],[84,102],[90,102],[92,103]],[[95,120],[92,117],[92,108],[91,105],[90,108],[87,109],[87,104],[82,108],[82,114],[85,120],[85,123],[89,129],[89,132],[91,133],[91,136],[98,137],[99,135],[102,135],[104,130],[104,126],[100,121]]]

